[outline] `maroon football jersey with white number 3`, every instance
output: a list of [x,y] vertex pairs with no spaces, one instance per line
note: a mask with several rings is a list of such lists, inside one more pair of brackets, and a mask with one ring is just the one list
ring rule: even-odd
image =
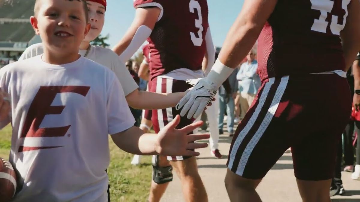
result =
[[208,28],[206,0],[134,0],[135,8],[162,10],[150,37],[151,79],[173,70],[201,69]]

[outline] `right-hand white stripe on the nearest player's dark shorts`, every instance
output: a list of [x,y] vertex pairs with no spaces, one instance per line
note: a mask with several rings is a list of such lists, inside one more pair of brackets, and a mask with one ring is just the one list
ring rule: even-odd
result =
[[276,110],[278,109],[279,103],[281,101],[281,98],[284,95],[288,81],[289,81],[289,76],[285,76],[285,77],[281,78],[281,82],[279,84],[278,89],[276,89],[276,92],[275,92],[273,101],[271,102],[271,105],[269,107],[269,110],[267,111],[264,119],[262,120],[262,122],[260,124],[260,127],[257,129],[256,133],[251,138],[250,142],[247,144],[247,146],[243,152],[243,155],[241,156],[236,174],[238,174],[240,176],[243,175],[245,166],[251,155],[251,152],[255,148],[256,144],[259,142],[262,135],[265,133],[265,130],[267,129],[267,127],[269,127],[269,124],[270,124],[271,120],[273,119]]

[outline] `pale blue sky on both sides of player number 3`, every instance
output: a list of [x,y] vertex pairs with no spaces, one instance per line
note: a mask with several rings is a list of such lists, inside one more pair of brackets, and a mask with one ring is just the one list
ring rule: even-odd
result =
[[[226,33],[239,14],[243,2],[243,0],[208,0],[209,23],[215,46],[222,46]],[[133,0],[107,0],[102,35],[110,34],[108,41],[110,47],[120,41],[134,19],[135,9],[132,4]]]

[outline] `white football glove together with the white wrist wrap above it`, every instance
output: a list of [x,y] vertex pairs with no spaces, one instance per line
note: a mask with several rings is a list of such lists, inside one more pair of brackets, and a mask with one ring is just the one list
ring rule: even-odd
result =
[[186,83],[195,85],[192,89],[186,93],[186,95],[180,100],[176,105],[175,109],[180,110],[180,116],[188,115],[186,118],[195,119],[201,115],[205,107],[212,101],[213,97],[216,95],[216,91],[219,89],[221,84],[229,77],[234,69],[225,66],[216,60],[215,64],[212,66],[210,73],[201,79],[188,79]]

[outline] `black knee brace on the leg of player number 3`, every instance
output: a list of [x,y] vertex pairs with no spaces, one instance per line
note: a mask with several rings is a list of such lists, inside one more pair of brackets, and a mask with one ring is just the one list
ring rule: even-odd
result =
[[159,155],[153,155],[153,180],[156,184],[172,181],[172,166],[160,167]]

